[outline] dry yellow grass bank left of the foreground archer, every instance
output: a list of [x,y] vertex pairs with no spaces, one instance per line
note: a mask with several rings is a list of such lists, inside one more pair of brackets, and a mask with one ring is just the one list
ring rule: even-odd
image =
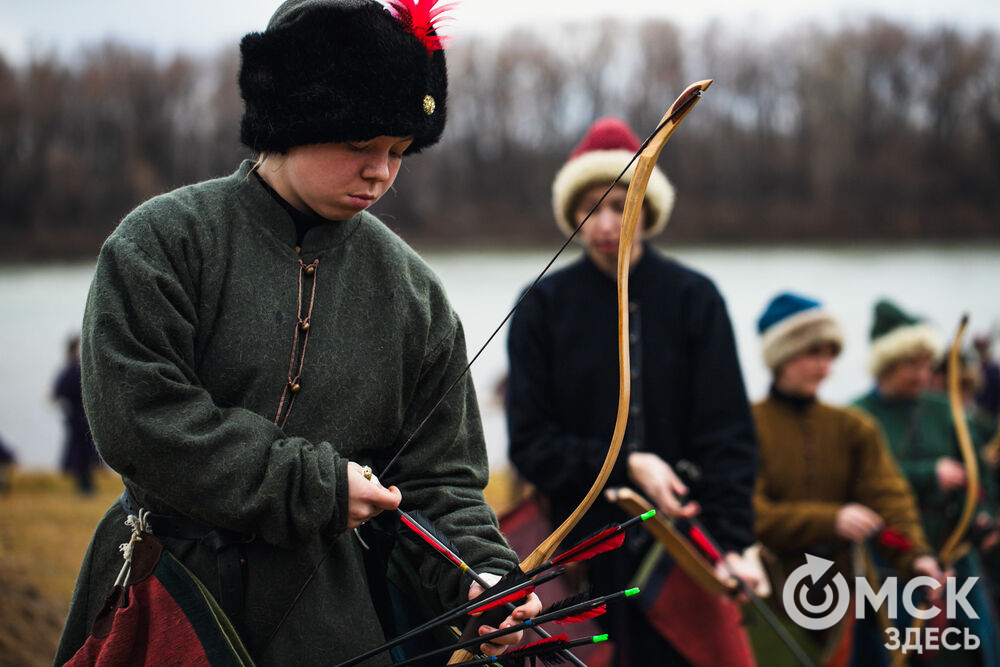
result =
[[0,667],[52,664],[83,554],[122,490],[111,473],[96,481],[82,497],[61,475],[15,471],[0,493]]

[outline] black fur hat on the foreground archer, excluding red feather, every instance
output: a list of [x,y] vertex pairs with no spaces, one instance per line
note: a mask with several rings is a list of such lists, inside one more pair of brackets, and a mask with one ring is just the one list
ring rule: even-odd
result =
[[444,131],[444,51],[375,0],[288,0],[240,52],[240,139],[255,151],[386,135],[413,136],[416,153]]

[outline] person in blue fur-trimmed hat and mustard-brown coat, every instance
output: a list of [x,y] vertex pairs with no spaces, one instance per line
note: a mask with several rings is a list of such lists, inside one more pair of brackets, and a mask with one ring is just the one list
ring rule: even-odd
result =
[[[883,551],[895,573],[942,579],[916,500],[878,425],[818,399],[844,345],[840,325],[819,302],[783,293],[768,303],[757,330],[772,383],[767,398],[753,406],[760,445],[754,509],[757,535],[775,556],[775,589],[809,554],[834,561],[831,575],[840,572],[848,580],[868,571],[878,590],[880,577],[859,548],[867,544]],[[829,630],[810,633],[808,650],[817,664],[881,664],[885,641],[866,640],[880,636],[880,629],[856,636],[854,623],[847,615]],[[763,631],[754,636],[765,639]],[[768,664],[797,663],[771,656]]]

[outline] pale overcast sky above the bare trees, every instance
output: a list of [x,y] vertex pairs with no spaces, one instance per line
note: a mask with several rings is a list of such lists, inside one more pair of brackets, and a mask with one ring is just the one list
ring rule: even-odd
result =
[[[145,45],[160,54],[210,52],[263,29],[278,4],[277,0],[0,0],[0,53],[15,62],[33,49],[68,55],[82,44],[107,37]],[[627,20],[667,18],[685,28],[722,19],[774,32],[807,20],[836,26],[875,13],[918,27],[944,23],[963,31],[1000,32],[1000,0],[460,0],[449,32],[461,38],[498,33],[516,24],[598,19],[611,11]]]

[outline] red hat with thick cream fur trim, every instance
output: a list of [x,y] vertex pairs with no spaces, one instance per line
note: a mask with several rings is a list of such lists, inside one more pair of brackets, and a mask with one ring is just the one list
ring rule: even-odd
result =
[[[618,118],[594,121],[552,183],[552,208],[556,225],[563,233],[570,236],[576,229],[573,213],[583,191],[592,185],[613,181],[639,146],[641,142],[624,121]],[[628,185],[633,174],[635,164],[629,167],[620,182]],[[649,177],[645,205],[649,213],[643,232],[645,236],[652,236],[667,226],[674,207],[674,188],[659,167],[654,167]]]

